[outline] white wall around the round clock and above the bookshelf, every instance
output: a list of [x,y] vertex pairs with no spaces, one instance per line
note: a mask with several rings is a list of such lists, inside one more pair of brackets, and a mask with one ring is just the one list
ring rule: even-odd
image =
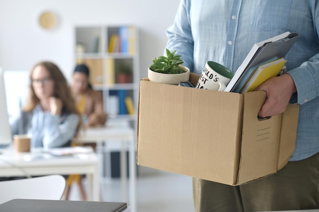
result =
[[[154,56],[163,54],[166,28],[179,0],[0,0],[0,67],[30,70],[40,60],[56,63],[70,79],[74,68],[74,26],[134,24],[140,33],[140,76]],[[59,16],[59,25],[39,25],[43,11]]]

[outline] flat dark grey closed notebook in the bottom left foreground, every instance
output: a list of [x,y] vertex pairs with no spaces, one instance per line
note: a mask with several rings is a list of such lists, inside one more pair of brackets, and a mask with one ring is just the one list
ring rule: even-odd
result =
[[6,212],[120,212],[127,207],[125,202],[93,202],[66,200],[13,199],[0,204]]

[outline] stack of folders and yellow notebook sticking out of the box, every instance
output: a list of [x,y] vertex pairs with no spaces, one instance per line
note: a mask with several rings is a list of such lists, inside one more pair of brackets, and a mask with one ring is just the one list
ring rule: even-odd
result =
[[251,92],[262,82],[277,76],[286,63],[284,56],[298,37],[298,33],[286,32],[254,44],[224,91]]

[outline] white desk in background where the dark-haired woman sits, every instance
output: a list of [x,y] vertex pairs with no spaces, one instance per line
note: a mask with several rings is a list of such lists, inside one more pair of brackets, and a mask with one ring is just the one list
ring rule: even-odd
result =
[[[108,125],[97,128],[88,128],[81,132],[79,140],[82,142],[96,142],[99,147],[108,141],[121,141],[121,181],[122,181],[122,201],[127,202],[127,162],[126,149],[129,144],[129,205],[132,212],[136,212],[136,157],[134,130],[127,125]],[[98,153],[101,154],[101,153]],[[102,160],[103,161],[103,160]],[[104,161],[103,161],[104,162]],[[101,173],[101,172],[100,172]]]

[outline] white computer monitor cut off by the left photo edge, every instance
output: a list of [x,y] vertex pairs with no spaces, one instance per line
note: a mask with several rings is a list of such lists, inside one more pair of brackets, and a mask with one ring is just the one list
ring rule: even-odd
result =
[[12,142],[6,100],[7,98],[5,90],[4,70],[0,68],[0,147],[1,144],[10,144]]

